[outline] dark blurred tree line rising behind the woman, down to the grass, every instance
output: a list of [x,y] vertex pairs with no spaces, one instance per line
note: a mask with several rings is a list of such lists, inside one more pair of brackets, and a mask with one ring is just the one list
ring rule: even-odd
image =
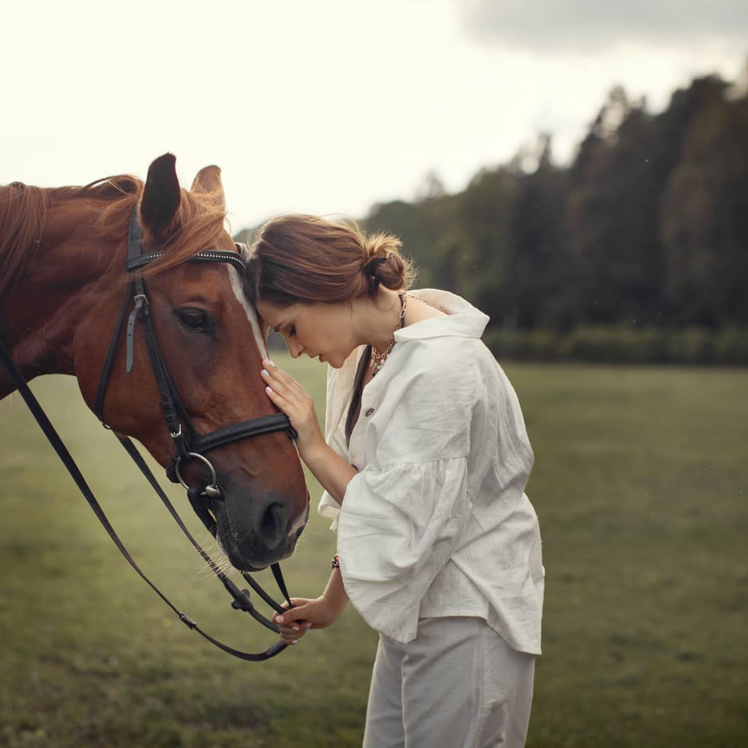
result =
[[[613,88],[569,165],[542,134],[457,194],[431,174],[419,197],[378,203],[361,224],[402,238],[418,286],[485,310],[502,353],[627,360],[646,338],[648,360],[748,364],[742,77],[693,79],[658,114]],[[590,354],[601,340],[609,352]]]

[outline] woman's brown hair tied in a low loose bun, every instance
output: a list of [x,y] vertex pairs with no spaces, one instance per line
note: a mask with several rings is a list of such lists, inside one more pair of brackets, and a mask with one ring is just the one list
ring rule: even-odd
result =
[[367,235],[353,221],[281,215],[258,230],[245,286],[253,301],[280,306],[373,297],[380,285],[408,289],[414,269],[401,247],[396,236]]

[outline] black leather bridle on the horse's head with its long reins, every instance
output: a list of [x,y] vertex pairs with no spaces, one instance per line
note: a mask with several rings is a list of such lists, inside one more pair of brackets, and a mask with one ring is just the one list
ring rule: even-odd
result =
[[[126,372],[129,373],[132,370],[134,361],[135,328],[136,325],[140,323],[141,328],[143,328],[144,331],[151,368],[153,369],[153,375],[156,378],[156,384],[159,387],[164,419],[169,430],[169,434],[174,441],[176,450],[176,456],[170,457],[170,465],[167,470],[167,475],[173,482],[180,482],[187,489],[187,496],[192,508],[200,518],[200,521],[203,522],[209,533],[211,533],[211,535],[215,538],[217,528],[215,518],[213,518],[211,513],[211,502],[212,499],[221,496],[221,489],[218,488],[215,468],[213,468],[209,460],[204,456],[204,453],[208,452],[209,450],[214,450],[216,447],[221,447],[224,444],[230,444],[234,441],[239,441],[240,439],[245,439],[251,436],[259,436],[272,432],[285,431],[288,433],[290,438],[295,438],[296,433],[291,426],[288,417],[286,417],[285,414],[279,413],[253,418],[251,420],[242,421],[240,423],[234,423],[230,426],[224,426],[221,429],[216,429],[214,432],[210,432],[209,434],[197,434],[197,431],[194,429],[194,426],[192,425],[191,420],[188,416],[187,410],[183,405],[182,400],[180,399],[177,388],[174,386],[174,381],[172,381],[171,376],[168,373],[168,369],[162,356],[161,349],[159,348],[159,343],[156,339],[156,331],[153,328],[153,320],[151,319],[150,310],[148,308],[148,298],[145,282],[143,278],[138,275],[135,275],[134,278],[132,277],[133,273],[138,272],[138,270],[144,268],[149,263],[152,263],[154,260],[157,260],[162,256],[161,252],[143,254],[142,239],[143,231],[140,224],[138,223],[136,208],[132,213],[132,218],[129,224],[127,237],[127,259],[125,262],[125,268],[130,274],[131,280],[127,285],[127,292],[125,295],[122,310],[120,311],[120,316],[117,319],[117,325],[114,329],[114,336],[112,337],[111,343],[109,345],[104,365],[102,367],[102,373],[99,377],[99,386],[96,390],[96,400],[94,402],[93,410],[96,413],[96,416],[105,426],[105,428],[108,429],[109,426],[105,423],[103,417],[104,395],[109,375],[111,374],[114,355],[117,351],[117,346],[122,334],[123,322],[125,320],[125,317],[127,316],[127,310],[129,309],[130,304],[132,303],[132,301],[134,301],[135,305],[132,308],[127,321],[125,355]],[[236,248],[239,251],[239,254],[237,254],[236,252],[206,250],[198,252],[193,257],[188,258],[186,262],[229,263],[230,265],[233,265],[236,269],[238,269],[239,272],[244,272],[246,269],[246,265],[241,256],[242,245],[236,245]],[[180,621],[187,625],[188,628],[197,631],[200,636],[204,637],[212,644],[215,644],[215,646],[224,650],[224,652],[233,654],[233,656],[239,657],[242,660],[268,660],[270,657],[275,657],[276,654],[282,652],[283,649],[286,649],[286,645],[281,642],[275,643],[274,645],[269,647],[266,652],[260,652],[259,654],[240,652],[237,649],[233,649],[232,647],[221,643],[220,641],[214,639],[205,631],[203,631],[197,625],[197,623],[194,622],[193,619],[187,616],[186,613],[178,610],[177,607],[175,607],[174,604],[172,604],[171,601],[169,601],[168,598],[166,598],[166,596],[162,594],[162,592],[156,587],[156,585],[154,585],[153,582],[151,582],[150,579],[146,576],[146,574],[144,574],[135,560],[133,560],[132,556],[123,545],[123,542],[121,542],[121,540],[117,536],[117,533],[114,532],[114,528],[111,527],[111,524],[109,523],[101,506],[96,500],[96,497],[93,496],[91,488],[88,487],[88,484],[85,482],[85,479],[82,476],[82,473],[80,472],[78,466],[74,462],[72,456],[70,456],[67,447],[65,447],[61,438],[55,431],[54,426],[52,426],[52,423],[50,423],[49,418],[44,413],[41,405],[34,397],[34,394],[31,393],[31,390],[29,389],[25,378],[23,377],[16,363],[12,358],[10,358],[10,354],[7,352],[7,349],[5,348],[2,340],[0,340],[0,360],[7,368],[11,378],[13,378],[14,384],[16,384],[19,393],[25,400],[26,405],[28,405],[29,410],[31,410],[31,413],[36,418],[37,423],[39,423],[44,434],[52,444],[52,447],[54,447],[61,461],[70,472],[70,475],[73,476],[73,480],[75,480],[76,485],[78,485],[80,491],[91,506],[91,509],[93,509],[94,514],[99,519],[99,522],[101,522],[114,544],[117,545],[120,553],[123,554],[127,562],[132,565],[132,568],[135,569],[135,571],[146,581],[146,583],[154,590],[154,592],[156,592],[156,594],[159,595],[160,598],[162,598],[165,604],[171,607],[171,610],[173,610],[174,613],[177,614],[177,617],[180,619]],[[150,485],[156,491],[156,494],[158,494],[159,498],[162,500],[162,503],[164,503],[166,509],[177,522],[180,529],[183,531],[183,533],[186,534],[191,544],[194,546],[200,556],[203,557],[203,560],[206,561],[213,573],[221,580],[224,587],[227,589],[227,592],[229,592],[229,594],[233,598],[233,602],[231,604],[232,607],[235,610],[244,610],[245,613],[249,613],[263,626],[266,626],[266,628],[269,628],[271,631],[275,631],[275,633],[278,633],[278,626],[269,621],[269,619],[263,616],[263,614],[254,607],[254,604],[250,598],[249,590],[239,590],[239,588],[236,587],[236,585],[226,576],[226,574],[224,574],[224,572],[221,571],[220,568],[218,568],[218,565],[216,565],[216,563],[209,557],[209,555],[206,554],[203,548],[200,547],[200,544],[197,543],[194,537],[191,536],[191,533],[189,533],[189,531],[187,530],[187,527],[181,520],[179,514],[177,513],[177,510],[174,509],[171,501],[162,490],[161,486],[156,480],[156,477],[153,476],[153,473],[151,472],[150,468],[148,468],[148,465],[144,461],[141,454],[138,452],[135,445],[132,444],[132,441],[130,441],[126,436],[120,436],[118,434],[117,439],[119,439],[120,444],[123,445],[126,452],[135,462],[135,465],[138,465],[138,468],[140,468],[141,472],[147,478],[148,482],[150,482]],[[183,479],[180,473],[180,465],[183,462],[188,462],[192,459],[197,459],[209,470],[210,480],[207,485],[190,487]],[[291,601],[286,590],[286,584],[283,581],[283,574],[281,574],[281,567],[277,563],[275,563],[272,564],[271,569],[273,576],[278,583],[278,587],[283,594],[283,597],[286,599],[289,607],[291,607]],[[275,602],[270,597],[270,595],[268,595],[267,592],[263,590],[260,584],[257,583],[257,581],[254,580],[253,577],[251,577],[250,574],[242,571],[242,577],[244,577],[249,586],[251,586],[254,592],[257,592],[257,595],[259,595],[260,598],[262,598],[263,601],[266,602],[266,604],[272,607],[276,612],[283,613],[283,607]]]

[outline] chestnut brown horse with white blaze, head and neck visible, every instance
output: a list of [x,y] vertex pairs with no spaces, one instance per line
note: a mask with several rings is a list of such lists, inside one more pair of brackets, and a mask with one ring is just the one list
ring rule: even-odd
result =
[[[76,376],[94,408],[99,375],[114,335],[128,278],[128,225],[134,210],[143,251],[148,309],[168,373],[198,434],[277,413],[260,378],[266,330],[230,263],[186,262],[200,251],[236,252],[224,228],[218,167],[180,188],[174,156],[135,177],[85,187],[0,187],[0,340],[28,381]],[[132,304],[131,304],[132,306]],[[103,400],[103,420],[140,441],[163,466],[174,458],[149,353],[135,334],[126,373],[121,336]],[[0,368],[0,399],[15,389]],[[99,414],[101,415],[101,414]],[[309,500],[294,444],[284,432],[245,438],[210,453],[220,497],[212,500],[217,538],[242,571],[289,556],[307,521]],[[183,467],[187,482],[205,468]]]

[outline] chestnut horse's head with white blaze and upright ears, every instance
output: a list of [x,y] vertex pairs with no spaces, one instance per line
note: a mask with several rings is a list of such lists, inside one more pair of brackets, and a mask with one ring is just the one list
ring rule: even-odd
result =
[[[260,378],[266,330],[242,290],[230,263],[192,263],[200,251],[236,252],[224,227],[221,171],[201,170],[189,191],[180,188],[171,154],[150,165],[140,194],[122,197],[120,208],[100,216],[136,210],[145,253],[159,253],[138,269],[147,283],[147,312],[165,369],[197,435],[277,413]],[[108,216],[108,217],[107,217]],[[91,236],[88,236],[91,242]],[[126,279],[114,263],[90,284],[88,313],[76,322],[74,371],[93,408],[109,341],[124,298]],[[116,280],[115,280],[116,279]],[[144,334],[133,328],[131,352],[122,335],[103,398],[105,423],[132,436],[165,468],[174,459],[173,435],[162,413],[162,393],[152,370]],[[126,358],[131,358],[126,366]],[[209,453],[220,495],[212,499],[216,538],[233,566],[263,568],[289,556],[304,529],[309,497],[295,445],[286,432],[245,438]],[[182,466],[189,484],[212,480],[200,460]]]

